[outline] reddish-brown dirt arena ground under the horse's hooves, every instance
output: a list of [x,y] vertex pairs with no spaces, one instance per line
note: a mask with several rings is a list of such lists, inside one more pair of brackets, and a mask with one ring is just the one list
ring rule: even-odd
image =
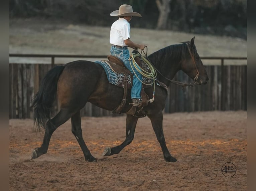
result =
[[[125,139],[125,116],[82,117],[85,142],[98,162],[86,162],[71,121],[52,135],[48,152],[29,160],[43,134],[31,119],[10,119],[10,190],[246,190],[246,111],[164,114],[166,144],[177,162],[165,162],[145,117],[138,121],[133,142],[105,159],[105,147]],[[225,177],[222,166],[236,166]]]

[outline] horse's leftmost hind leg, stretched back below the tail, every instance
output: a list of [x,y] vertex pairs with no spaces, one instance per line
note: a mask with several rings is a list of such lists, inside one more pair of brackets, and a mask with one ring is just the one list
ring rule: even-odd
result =
[[65,123],[72,114],[73,113],[71,113],[69,109],[61,108],[60,111],[52,119],[47,121],[43,143],[41,147],[35,148],[32,151],[30,159],[35,159],[47,152],[52,133],[57,129],[58,126]]

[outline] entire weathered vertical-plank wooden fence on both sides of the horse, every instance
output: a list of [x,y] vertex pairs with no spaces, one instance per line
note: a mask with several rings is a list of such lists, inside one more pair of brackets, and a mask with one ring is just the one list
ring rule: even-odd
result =
[[[40,82],[52,65],[10,64],[10,118],[32,118],[30,108]],[[186,87],[171,84],[166,101],[165,112],[247,110],[247,66],[205,66],[210,78],[207,85]],[[174,78],[180,82],[191,82],[183,72]],[[157,95],[156,95],[157,96]],[[53,114],[58,110],[54,103]],[[82,116],[107,116],[111,111],[87,103],[81,110]],[[115,115],[114,115],[115,116]]]

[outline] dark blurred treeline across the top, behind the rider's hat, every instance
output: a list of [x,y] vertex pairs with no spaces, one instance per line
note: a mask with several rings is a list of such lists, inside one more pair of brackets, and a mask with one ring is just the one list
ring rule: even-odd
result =
[[10,19],[43,17],[63,22],[111,26],[109,14],[130,4],[143,19],[133,27],[169,29],[247,38],[247,0],[10,0]]

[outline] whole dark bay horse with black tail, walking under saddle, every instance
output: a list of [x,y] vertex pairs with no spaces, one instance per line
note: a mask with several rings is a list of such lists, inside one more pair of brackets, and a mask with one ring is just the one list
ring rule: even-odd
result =
[[[170,82],[166,78],[173,79],[179,70],[194,79],[197,85],[206,84],[209,80],[194,45],[194,39],[195,37],[190,42],[170,45],[148,56],[158,71],[158,80],[167,87]],[[85,160],[90,162],[97,161],[90,153],[83,139],[80,109],[89,101],[103,109],[114,110],[123,98],[123,91],[123,88],[110,84],[103,67],[94,62],[80,60],[52,68],[42,80],[32,104],[36,127],[39,130],[43,127],[45,133],[41,147],[32,151],[31,159],[35,159],[47,152],[54,130],[71,118],[72,133],[84,153]],[[147,95],[152,95],[153,87],[144,91]],[[130,90],[128,90],[127,95],[127,103],[123,113],[127,112],[131,107],[128,104],[132,102]],[[60,104],[60,111],[50,119],[50,108],[56,96]],[[175,162],[176,159],[171,156],[166,147],[162,129],[162,110],[164,109],[166,98],[166,90],[160,86],[155,86],[155,100],[145,106],[142,112],[151,120],[165,160]],[[107,147],[103,155],[118,154],[126,145],[130,144],[134,137],[137,121],[138,117],[127,114],[124,142],[112,148]]]

